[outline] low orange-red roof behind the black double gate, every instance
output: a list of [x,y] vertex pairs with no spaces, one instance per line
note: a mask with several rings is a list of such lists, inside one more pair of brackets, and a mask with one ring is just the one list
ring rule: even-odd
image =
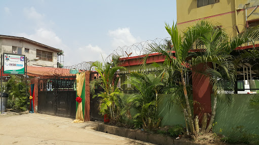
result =
[[27,75],[31,77],[40,76],[75,76],[70,74],[70,69],[56,67],[27,66]]

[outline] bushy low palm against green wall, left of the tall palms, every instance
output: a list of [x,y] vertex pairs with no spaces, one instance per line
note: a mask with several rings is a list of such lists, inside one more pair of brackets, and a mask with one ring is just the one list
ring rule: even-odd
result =
[[124,84],[134,85],[137,90],[128,98],[129,105],[126,109],[138,111],[133,118],[141,121],[144,129],[157,128],[161,122],[157,114],[158,93],[163,86],[161,76],[132,72],[131,79]]

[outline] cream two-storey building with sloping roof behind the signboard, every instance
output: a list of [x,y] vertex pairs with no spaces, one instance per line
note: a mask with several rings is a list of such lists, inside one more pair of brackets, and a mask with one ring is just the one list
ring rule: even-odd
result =
[[25,55],[29,66],[57,67],[58,53],[63,51],[24,37],[0,35],[0,52]]

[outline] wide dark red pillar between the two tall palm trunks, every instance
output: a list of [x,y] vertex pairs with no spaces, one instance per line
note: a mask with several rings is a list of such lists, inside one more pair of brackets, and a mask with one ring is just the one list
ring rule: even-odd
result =
[[206,68],[207,65],[198,64],[192,71],[193,111],[194,116],[199,116],[199,122],[202,121],[204,113],[211,114],[211,85],[209,78],[200,73],[195,73],[195,71],[204,72]]

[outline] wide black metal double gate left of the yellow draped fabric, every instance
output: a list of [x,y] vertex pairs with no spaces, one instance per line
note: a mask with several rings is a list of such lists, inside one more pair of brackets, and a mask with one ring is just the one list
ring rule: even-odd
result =
[[75,76],[39,79],[38,113],[75,118],[75,82]]

